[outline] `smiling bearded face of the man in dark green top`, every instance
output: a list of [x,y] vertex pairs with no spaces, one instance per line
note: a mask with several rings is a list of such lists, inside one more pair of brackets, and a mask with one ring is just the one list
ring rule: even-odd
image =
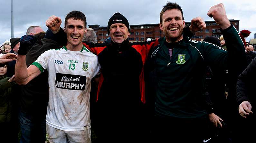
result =
[[177,9],[171,9],[164,12],[162,23],[159,27],[164,31],[168,43],[177,42],[183,39],[182,33],[185,27],[185,21],[182,20],[182,13]]

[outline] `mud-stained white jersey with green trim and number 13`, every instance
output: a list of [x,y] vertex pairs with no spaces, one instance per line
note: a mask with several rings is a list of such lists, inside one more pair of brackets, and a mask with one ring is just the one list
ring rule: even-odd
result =
[[98,57],[84,46],[81,51],[51,49],[33,63],[48,71],[49,103],[46,123],[63,131],[90,128],[91,79],[98,74]]

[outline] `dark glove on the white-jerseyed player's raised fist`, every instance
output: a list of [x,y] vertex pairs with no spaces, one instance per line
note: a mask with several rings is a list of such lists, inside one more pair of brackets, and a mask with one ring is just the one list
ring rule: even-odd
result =
[[28,50],[35,44],[36,37],[33,35],[24,35],[20,39],[20,48],[18,55],[26,55]]

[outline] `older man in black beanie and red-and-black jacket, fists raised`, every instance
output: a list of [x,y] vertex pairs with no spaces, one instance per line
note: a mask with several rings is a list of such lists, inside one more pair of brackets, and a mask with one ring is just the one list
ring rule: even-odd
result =
[[[59,24],[60,20],[55,18],[49,24],[49,19],[46,22],[49,28],[46,38],[65,45],[63,29],[56,28],[56,23]],[[194,35],[190,31],[199,31],[198,27],[205,25],[201,18],[196,18],[193,22],[198,23],[198,26],[193,27],[194,29],[191,26],[185,28],[189,36]],[[111,37],[110,44],[83,43],[98,55],[102,66],[97,93],[98,138],[102,142],[122,142],[123,139],[126,142],[134,142],[135,139],[145,141],[148,139],[146,135],[150,125],[147,125],[149,118],[145,110],[143,69],[147,54],[151,47],[159,44],[158,39],[129,43],[129,23],[119,12],[110,17],[107,30]]]

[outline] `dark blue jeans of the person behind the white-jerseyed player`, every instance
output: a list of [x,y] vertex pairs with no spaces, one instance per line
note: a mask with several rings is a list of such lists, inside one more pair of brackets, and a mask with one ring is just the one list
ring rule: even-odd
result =
[[19,121],[21,128],[20,143],[45,142],[46,116],[42,116],[39,114],[40,113],[37,113],[37,115],[35,115],[24,113],[22,111],[19,112]]

